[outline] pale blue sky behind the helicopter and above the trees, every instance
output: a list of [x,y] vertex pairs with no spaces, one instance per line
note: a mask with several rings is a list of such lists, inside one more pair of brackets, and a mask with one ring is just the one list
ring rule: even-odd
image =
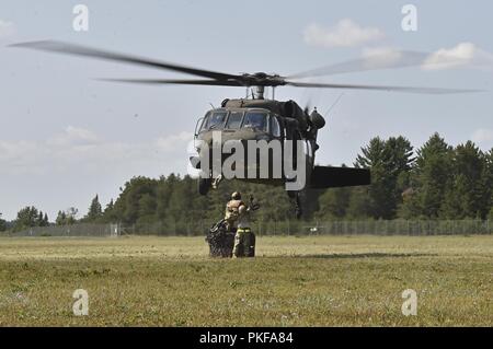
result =
[[[78,3],[89,7],[89,32],[72,28]],[[406,3],[416,5],[416,32],[401,28]],[[318,162],[337,165],[352,163],[375,136],[403,135],[419,147],[438,131],[451,144],[473,139],[491,149],[492,13],[490,1],[2,1],[0,212],[13,219],[21,207],[35,205],[50,219],[71,206],[83,214],[95,194],[106,203],[134,175],[185,173],[196,119],[209,103],[244,95],[232,88],[98,82],[93,78],[177,74],[9,44],[61,39],[226,72],[280,74],[382,48],[458,53],[465,63],[455,69],[416,67],[318,81],[489,90],[439,96],[346,91],[319,136]],[[481,67],[473,67],[478,61]],[[276,91],[279,100],[322,112],[340,94]]]

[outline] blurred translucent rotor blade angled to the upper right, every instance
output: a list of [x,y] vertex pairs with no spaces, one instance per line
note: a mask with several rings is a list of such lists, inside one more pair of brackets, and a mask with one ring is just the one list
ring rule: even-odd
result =
[[383,70],[395,68],[408,68],[424,66],[427,68],[437,67],[451,63],[463,62],[461,57],[447,56],[443,57],[440,61],[431,62],[426,61],[433,54],[420,53],[420,51],[405,51],[405,50],[382,50],[379,54],[368,55],[367,57],[353,59],[335,65],[321,67],[303,71],[297,74],[289,75],[288,79],[302,79],[311,77],[325,77],[348,72],[370,71],[370,70]]

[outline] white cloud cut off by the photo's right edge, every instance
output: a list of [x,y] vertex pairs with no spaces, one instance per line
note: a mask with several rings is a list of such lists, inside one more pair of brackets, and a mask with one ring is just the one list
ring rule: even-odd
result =
[[460,43],[452,48],[440,48],[423,62],[425,70],[451,69],[458,67],[493,68],[493,55],[472,43]]

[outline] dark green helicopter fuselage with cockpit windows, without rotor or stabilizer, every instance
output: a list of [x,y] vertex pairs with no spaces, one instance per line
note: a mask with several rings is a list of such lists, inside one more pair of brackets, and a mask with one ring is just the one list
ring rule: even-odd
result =
[[[251,101],[240,104],[245,102]],[[276,105],[276,101],[256,101],[253,106],[252,103],[228,106],[228,103],[207,112],[197,121],[196,150],[197,153],[207,152],[200,155],[203,161],[195,159],[195,167],[205,171],[206,178],[203,179],[223,176],[223,165],[232,166],[234,178],[253,183],[283,185],[295,179],[294,171],[296,174],[302,171],[303,181],[309,178],[314,164],[316,139],[303,135],[306,132],[296,118],[266,107]],[[208,156],[207,170],[203,156]],[[234,161],[231,161],[232,156]],[[214,171],[215,164],[220,171]]]

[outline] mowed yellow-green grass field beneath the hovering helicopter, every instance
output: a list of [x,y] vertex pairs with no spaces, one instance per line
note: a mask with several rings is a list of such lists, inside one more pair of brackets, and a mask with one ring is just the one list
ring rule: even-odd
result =
[[[492,326],[493,236],[0,239],[1,326]],[[89,316],[72,293],[89,292]],[[401,312],[417,293],[417,316]]]

